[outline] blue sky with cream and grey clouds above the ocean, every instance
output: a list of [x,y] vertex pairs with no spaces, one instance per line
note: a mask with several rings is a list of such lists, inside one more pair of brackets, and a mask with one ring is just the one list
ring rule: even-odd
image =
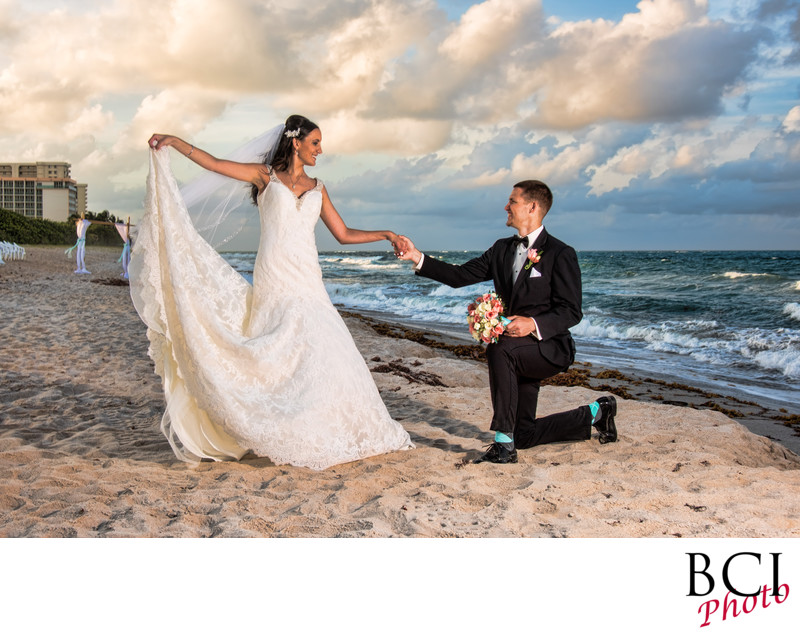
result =
[[425,249],[507,234],[525,178],[577,249],[800,248],[800,1],[303,6],[0,0],[0,159],[135,222],[150,133],[224,155],[300,112],[346,222]]

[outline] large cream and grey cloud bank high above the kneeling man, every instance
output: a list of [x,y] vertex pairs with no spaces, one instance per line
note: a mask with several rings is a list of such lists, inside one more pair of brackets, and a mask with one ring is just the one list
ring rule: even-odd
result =
[[645,0],[621,21],[561,23],[537,0],[487,0],[393,65],[369,112],[576,129],[708,117],[744,79],[756,37],[702,0]]

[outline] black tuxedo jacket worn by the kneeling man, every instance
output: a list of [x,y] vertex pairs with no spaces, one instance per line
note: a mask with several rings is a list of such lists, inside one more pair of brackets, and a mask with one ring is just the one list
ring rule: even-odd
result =
[[[426,254],[417,274],[450,287],[492,281],[503,300],[505,314],[535,318],[543,338],[542,356],[567,369],[575,360],[575,343],[569,328],[583,317],[578,256],[569,245],[542,229],[531,246],[540,250],[541,259],[531,269],[523,267],[512,281],[515,247],[513,237],[499,239],[481,256],[463,265],[437,261]],[[533,269],[541,276],[531,276]]]

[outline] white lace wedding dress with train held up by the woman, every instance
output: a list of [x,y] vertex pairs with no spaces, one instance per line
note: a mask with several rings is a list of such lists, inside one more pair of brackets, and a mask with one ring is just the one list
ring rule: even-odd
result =
[[413,448],[323,285],[321,206],[319,180],[297,198],[271,175],[251,286],[195,230],[169,150],[151,150],[130,290],[164,384],[161,428],[180,459],[252,451],[320,470]]

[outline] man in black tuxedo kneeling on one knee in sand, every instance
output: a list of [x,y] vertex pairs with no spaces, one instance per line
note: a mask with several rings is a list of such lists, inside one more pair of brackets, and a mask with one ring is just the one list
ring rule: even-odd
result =
[[541,181],[516,184],[505,211],[506,225],[517,235],[499,239],[463,265],[422,254],[408,239],[398,251],[400,258],[414,263],[418,275],[451,287],[493,281],[511,319],[498,342],[486,349],[495,439],[476,463],[515,463],[518,448],[587,440],[592,426],[599,431],[601,444],[617,441],[613,396],[536,417],[541,381],[566,371],[575,360],[569,328],[583,316],[575,250],[550,236],[542,225],[552,203],[553,194]]

